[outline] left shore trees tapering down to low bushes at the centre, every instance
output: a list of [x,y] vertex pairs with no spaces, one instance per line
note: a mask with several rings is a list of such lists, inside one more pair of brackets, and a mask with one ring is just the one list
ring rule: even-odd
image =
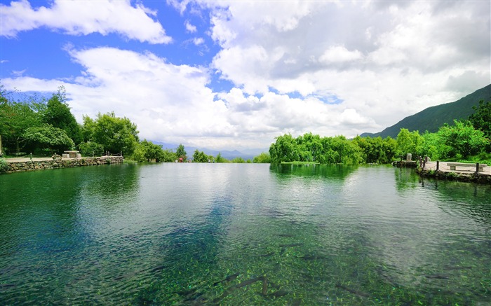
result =
[[122,153],[137,162],[269,162],[267,153],[253,161],[243,158],[230,161],[220,153],[214,157],[198,150],[188,159],[182,144],[175,151],[163,149],[147,139],[140,140],[138,134],[135,123],[117,117],[114,112],[98,113],[95,118],[83,116],[83,123],[77,123],[62,86],[47,99],[8,92],[0,85],[0,155],[29,152],[48,156],[77,149],[84,157]]

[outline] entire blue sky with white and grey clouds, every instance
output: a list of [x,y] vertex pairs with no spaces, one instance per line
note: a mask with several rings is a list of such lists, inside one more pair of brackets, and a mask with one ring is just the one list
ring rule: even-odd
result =
[[6,1],[6,90],[60,86],[79,123],[269,148],[379,132],[491,83],[491,1]]

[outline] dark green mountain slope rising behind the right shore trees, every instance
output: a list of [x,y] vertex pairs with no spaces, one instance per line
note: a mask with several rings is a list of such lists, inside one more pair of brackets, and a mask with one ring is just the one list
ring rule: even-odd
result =
[[410,132],[419,131],[420,133],[423,133],[426,130],[431,133],[437,132],[438,128],[441,127],[443,123],[453,125],[454,119],[461,120],[469,118],[469,116],[474,113],[472,106],[478,106],[480,100],[491,100],[491,84],[480,90],[476,90],[470,95],[466,95],[455,102],[431,106],[419,113],[408,116],[395,125],[387,127],[382,132],[363,133],[360,136],[380,136],[382,138],[390,136],[396,138],[397,134],[401,131],[401,128],[406,128],[410,130]]

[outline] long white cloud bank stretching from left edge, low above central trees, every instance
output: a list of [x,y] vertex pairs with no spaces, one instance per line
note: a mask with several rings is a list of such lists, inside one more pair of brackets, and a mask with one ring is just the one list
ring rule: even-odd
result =
[[[66,50],[83,67],[81,76],[19,76],[4,79],[4,85],[41,92],[65,85],[79,122],[83,115],[94,118],[97,112],[115,111],[136,123],[142,138],[208,148],[267,148],[274,137],[287,132],[331,135],[347,125],[372,125],[370,118],[317,97],[274,92],[256,97],[240,88],[216,93],[208,88],[207,69],[171,64],[154,53],[107,47]],[[347,118],[350,113],[356,116]]]

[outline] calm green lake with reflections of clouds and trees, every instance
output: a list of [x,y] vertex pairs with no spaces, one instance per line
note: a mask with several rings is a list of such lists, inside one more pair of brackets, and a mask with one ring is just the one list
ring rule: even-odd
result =
[[388,166],[0,175],[2,305],[490,305],[491,186]]

